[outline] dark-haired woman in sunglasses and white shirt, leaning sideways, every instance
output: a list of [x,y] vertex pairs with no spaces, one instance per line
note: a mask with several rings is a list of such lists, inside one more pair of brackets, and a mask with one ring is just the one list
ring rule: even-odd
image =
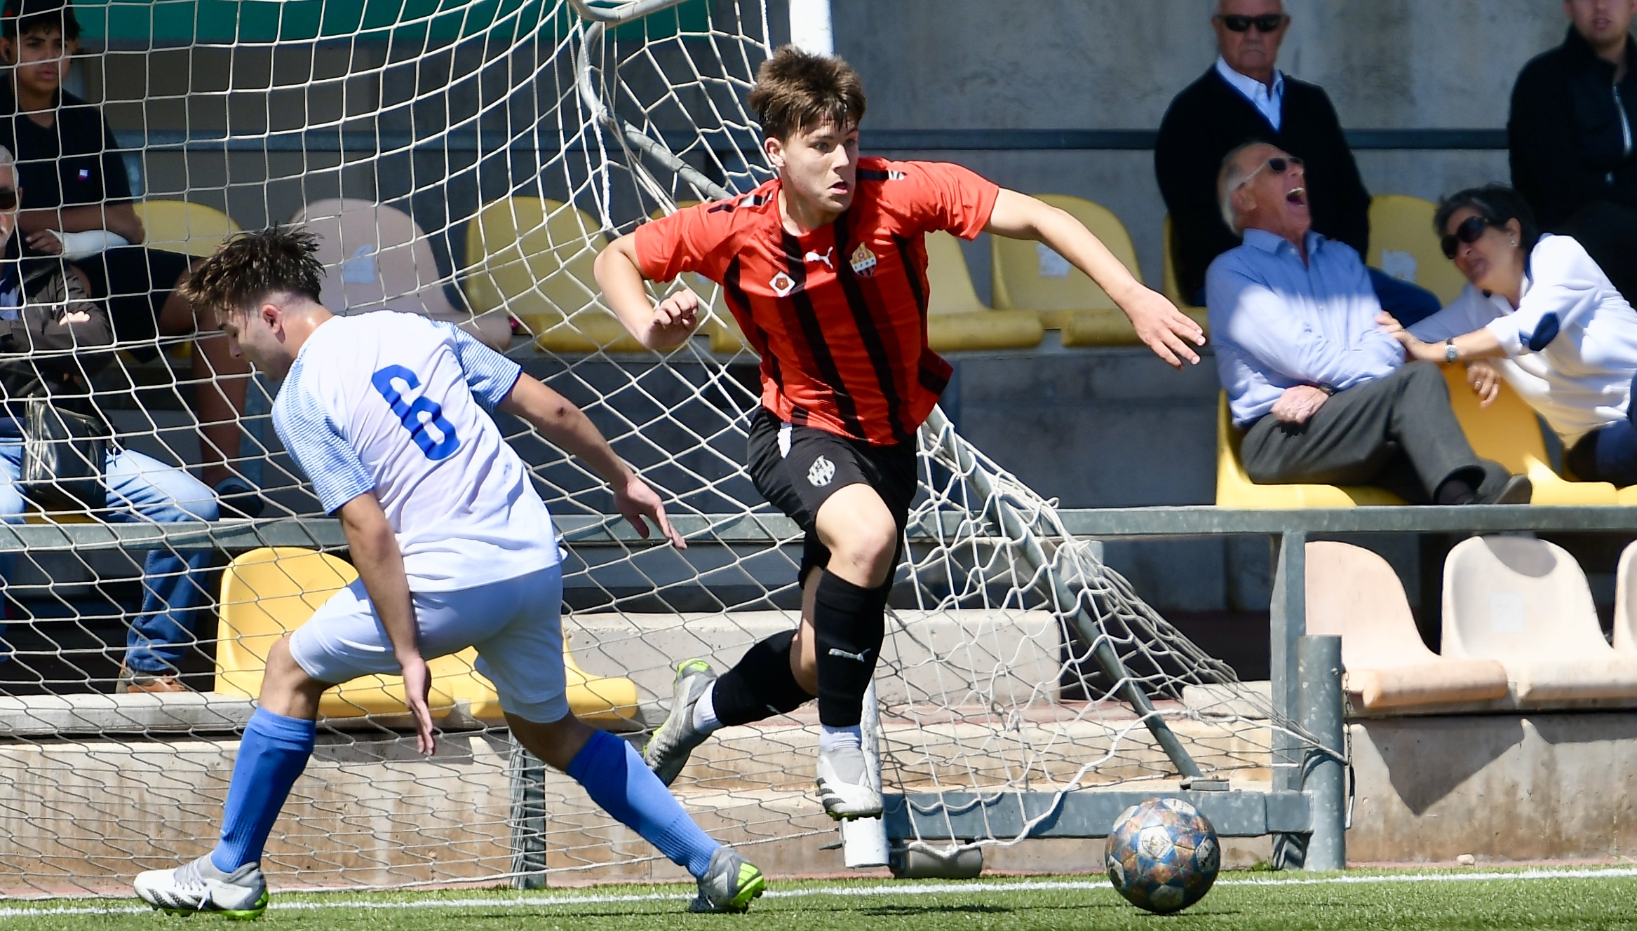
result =
[[1434,224],[1472,285],[1408,331],[1387,314],[1383,327],[1411,358],[1468,363],[1483,404],[1506,378],[1563,440],[1575,478],[1637,484],[1637,311],[1580,242],[1542,236],[1513,188],[1445,198]]

